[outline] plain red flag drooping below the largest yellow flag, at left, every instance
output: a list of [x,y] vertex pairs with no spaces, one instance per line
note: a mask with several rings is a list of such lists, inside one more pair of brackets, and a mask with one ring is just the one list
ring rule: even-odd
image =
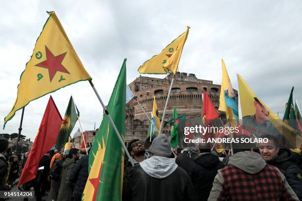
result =
[[32,150],[22,171],[18,187],[36,178],[41,158],[57,141],[63,119],[50,96]]

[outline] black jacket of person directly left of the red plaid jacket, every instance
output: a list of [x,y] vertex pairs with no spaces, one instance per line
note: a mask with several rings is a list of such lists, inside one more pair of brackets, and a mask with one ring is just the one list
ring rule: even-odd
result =
[[199,201],[207,201],[218,169],[225,167],[219,157],[211,153],[202,153],[195,157],[189,168],[195,192]]

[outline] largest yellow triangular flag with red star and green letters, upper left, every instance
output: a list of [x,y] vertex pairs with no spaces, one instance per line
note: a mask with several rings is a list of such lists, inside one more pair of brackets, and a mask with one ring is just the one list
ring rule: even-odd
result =
[[78,81],[91,79],[55,12],[48,14],[33,55],[21,74],[17,99],[4,118],[4,126],[17,110],[30,101]]

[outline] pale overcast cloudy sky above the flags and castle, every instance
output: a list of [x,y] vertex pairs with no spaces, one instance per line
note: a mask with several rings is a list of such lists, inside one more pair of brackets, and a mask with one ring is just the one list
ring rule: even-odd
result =
[[[233,87],[238,89],[239,73],[281,117],[292,86],[302,106],[300,0],[10,0],[0,7],[0,128],[48,17],[46,10],[56,12],[105,104],[124,58],[130,83],[139,76],[140,65],[190,26],[180,71],[221,84],[224,59]],[[62,116],[73,95],[83,130],[93,129],[95,122],[99,127],[103,111],[87,81],[51,95]],[[25,108],[22,134],[36,136],[48,99],[46,95]],[[18,133],[20,118],[21,110],[0,133]]]

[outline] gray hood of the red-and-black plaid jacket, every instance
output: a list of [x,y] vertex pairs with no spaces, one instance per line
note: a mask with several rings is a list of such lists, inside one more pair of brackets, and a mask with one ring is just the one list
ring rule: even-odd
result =
[[238,152],[229,157],[227,166],[234,166],[247,173],[256,174],[266,166],[266,163],[260,154],[245,151]]

